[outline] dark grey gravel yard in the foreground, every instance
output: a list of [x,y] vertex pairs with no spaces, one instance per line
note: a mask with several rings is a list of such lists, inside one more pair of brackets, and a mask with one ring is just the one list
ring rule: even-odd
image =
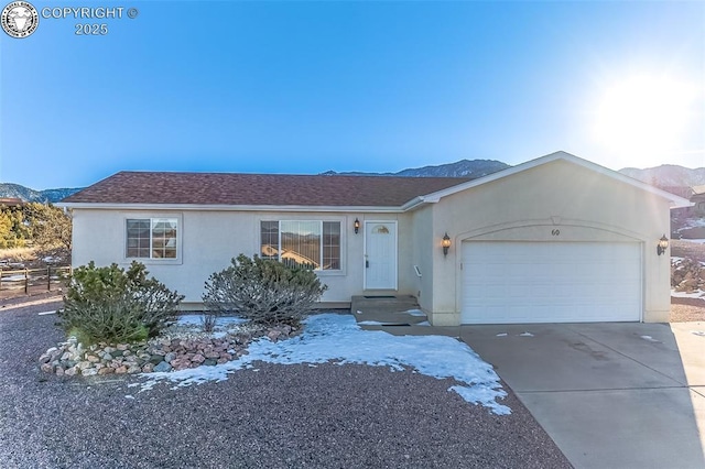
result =
[[261,363],[141,393],[138,377],[45,374],[63,336],[37,313],[58,305],[0,307],[2,468],[571,467],[507,385],[498,416],[452,380],[380,367]]

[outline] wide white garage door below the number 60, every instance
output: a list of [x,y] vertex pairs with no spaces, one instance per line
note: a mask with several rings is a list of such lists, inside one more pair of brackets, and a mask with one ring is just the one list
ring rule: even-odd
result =
[[463,324],[641,319],[641,248],[611,242],[463,243]]

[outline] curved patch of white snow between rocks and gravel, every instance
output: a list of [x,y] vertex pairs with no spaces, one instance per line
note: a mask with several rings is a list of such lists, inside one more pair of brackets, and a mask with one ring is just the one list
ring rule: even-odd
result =
[[497,415],[511,410],[497,402],[507,393],[492,367],[467,345],[444,336],[392,336],[381,330],[362,330],[350,315],[321,314],[305,320],[303,334],[288,340],[272,342],[261,338],[250,343],[249,355],[215,367],[198,367],[163,373],[143,373],[141,391],[158,382],[177,383],[174,389],[207,381],[225,381],[228,374],[253,368],[253,362],[275,364],[355,363],[389,367],[392,371],[411,369],[437,379],[453,378],[456,385],[448,391],[458,393],[473,404],[489,407]]

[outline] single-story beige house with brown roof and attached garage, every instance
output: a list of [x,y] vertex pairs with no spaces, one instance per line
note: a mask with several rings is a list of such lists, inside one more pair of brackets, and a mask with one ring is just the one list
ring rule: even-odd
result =
[[185,307],[245,253],[315,269],[322,307],[409,294],[447,326],[668,320],[690,201],[557,152],[473,181],[120,172],[62,205],[75,265],[141,261]]

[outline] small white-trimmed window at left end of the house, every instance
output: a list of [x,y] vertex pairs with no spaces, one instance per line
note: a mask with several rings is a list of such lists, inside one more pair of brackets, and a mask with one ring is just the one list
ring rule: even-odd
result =
[[126,257],[176,259],[176,218],[128,218]]

